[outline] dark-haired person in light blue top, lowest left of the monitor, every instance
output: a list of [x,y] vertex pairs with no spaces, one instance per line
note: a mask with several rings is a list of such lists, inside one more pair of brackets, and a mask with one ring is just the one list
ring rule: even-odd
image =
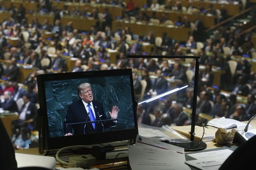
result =
[[26,126],[22,127],[18,137],[14,137],[14,139],[12,139],[14,149],[29,149],[29,144],[32,143],[30,137],[31,129]]

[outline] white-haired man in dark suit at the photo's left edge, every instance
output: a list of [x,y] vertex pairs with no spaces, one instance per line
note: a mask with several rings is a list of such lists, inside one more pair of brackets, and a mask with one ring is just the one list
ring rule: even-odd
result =
[[3,95],[0,96],[0,108],[8,111],[18,112],[18,106],[13,99],[12,92],[6,90]]

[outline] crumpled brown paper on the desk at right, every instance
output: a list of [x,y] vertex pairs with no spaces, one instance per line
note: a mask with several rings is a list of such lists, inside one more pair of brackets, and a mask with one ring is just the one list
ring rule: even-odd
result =
[[220,145],[229,144],[233,141],[235,133],[235,129],[232,129],[231,131],[228,132],[226,128],[219,128],[216,131],[215,138],[212,141]]

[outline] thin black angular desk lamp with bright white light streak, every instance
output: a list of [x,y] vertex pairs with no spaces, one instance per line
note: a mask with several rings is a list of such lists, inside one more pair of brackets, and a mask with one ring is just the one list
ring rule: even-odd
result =
[[[199,77],[199,65],[200,65],[200,56],[158,56],[158,55],[128,55],[128,58],[156,58],[156,59],[194,59],[195,64],[195,75],[194,75],[194,96],[193,96],[193,105],[192,105],[192,116],[191,116],[191,130],[190,130],[190,142],[173,142],[173,141],[163,141],[172,145],[176,145],[184,148],[185,151],[198,151],[206,149],[207,145],[203,141],[194,140],[195,135],[195,123],[196,123],[196,100],[197,100],[197,89],[198,89],[198,77]],[[182,88],[186,88],[184,86]],[[172,92],[181,90],[182,88],[171,90],[166,92],[170,94]]]

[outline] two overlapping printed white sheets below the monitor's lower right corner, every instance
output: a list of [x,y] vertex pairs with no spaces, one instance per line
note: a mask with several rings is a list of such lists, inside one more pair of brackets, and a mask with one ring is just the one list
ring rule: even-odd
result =
[[184,148],[140,135],[135,146],[128,145],[128,156],[132,170],[190,170]]

